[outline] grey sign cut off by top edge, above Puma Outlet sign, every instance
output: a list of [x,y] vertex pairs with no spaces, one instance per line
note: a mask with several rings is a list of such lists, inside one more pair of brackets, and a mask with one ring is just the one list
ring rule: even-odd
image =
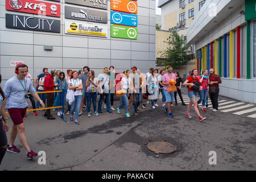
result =
[[108,9],[107,0],[65,0],[66,3],[72,3],[75,5],[96,7],[99,9]]

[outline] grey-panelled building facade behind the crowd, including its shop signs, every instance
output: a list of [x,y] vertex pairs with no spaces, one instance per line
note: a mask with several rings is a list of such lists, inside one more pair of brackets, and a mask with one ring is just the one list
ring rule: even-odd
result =
[[[132,1],[132,4],[127,0],[102,0],[92,1],[92,5],[85,4],[88,2],[0,1],[2,86],[15,75],[17,63],[27,64],[34,78],[42,73],[44,67],[66,73],[67,69],[78,71],[88,65],[96,75],[110,65],[115,67],[115,72],[136,66],[146,73],[148,68],[155,67],[154,0]],[[138,16],[138,22],[130,22],[134,23],[134,28],[129,31],[130,38],[115,38],[117,32],[112,32],[111,14],[118,3],[129,3],[134,10],[133,15]],[[94,30],[92,35],[88,35],[88,28]],[[122,30],[125,29],[121,27],[119,31]]]

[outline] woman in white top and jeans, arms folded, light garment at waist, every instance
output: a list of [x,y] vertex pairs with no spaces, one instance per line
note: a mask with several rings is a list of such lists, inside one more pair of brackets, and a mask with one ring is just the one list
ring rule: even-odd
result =
[[71,80],[68,81],[68,88],[74,91],[74,96],[75,96],[75,100],[72,102],[72,105],[71,105],[70,120],[73,121],[73,115],[75,110],[76,111],[75,123],[79,124],[77,119],[79,118],[79,108],[82,100],[82,81],[78,78],[77,71],[72,72]]

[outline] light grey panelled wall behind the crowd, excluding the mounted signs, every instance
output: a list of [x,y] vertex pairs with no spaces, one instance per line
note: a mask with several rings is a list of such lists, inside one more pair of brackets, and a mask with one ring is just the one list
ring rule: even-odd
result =
[[[56,3],[54,1],[47,1]],[[0,72],[3,83],[14,76],[14,67],[10,61],[24,61],[32,77],[42,73],[42,69],[79,70],[85,65],[98,73],[102,68],[113,65],[116,72],[123,72],[134,65],[142,72],[155,67],[155,0],[138,1],[138,39],[120,39],[110,37],[110,0],[108,1],[108,38],[93,36],[70,35],[64,32],[64,5],[71,5],[61,0],[61,17],[50,19],[61,20],[60,34],[16,30],[5,27],[5,14],[36,16],[27,13],[17,13],[5,10],[5,1],[0,1]],[[96,10],[88,7],[88,9]],[[102,24],[103,25],[103,24]],[[52,51],[45,51],[44,46],[53,46]]]

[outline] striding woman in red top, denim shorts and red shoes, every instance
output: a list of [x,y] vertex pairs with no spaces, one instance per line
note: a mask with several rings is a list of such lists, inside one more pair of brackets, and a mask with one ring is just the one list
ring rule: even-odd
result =
[[[199,109],[198,109],[199,107],[198,107],[197,101],[196,101],[196,96],[197,96],[198,91],[192,89],[192,86],[195,85],[195,84],[193,84],[193,81],[200,82],[199,78],[196,77],[197,75],[198,75],[197,69],[193,69],[191,71],[191,76],[189,76],[187,78],[187,80],[183,83],[184,86],[188,86],[188,97],[190,98],[188,110],[187,110],[187,113],[185,114],[185,116],[188,118],[192,118],[191,115],[189,115],[188,113],[191,110],[192,105],[194,105],[195,112],[196,112],[197,116],[199,117],[199,121],[201,122],[201,121],[204,121],[206,118],[201,117],[201,115],[199,113]],[[202,89],[201,86],[200,86],[200,89]]]

